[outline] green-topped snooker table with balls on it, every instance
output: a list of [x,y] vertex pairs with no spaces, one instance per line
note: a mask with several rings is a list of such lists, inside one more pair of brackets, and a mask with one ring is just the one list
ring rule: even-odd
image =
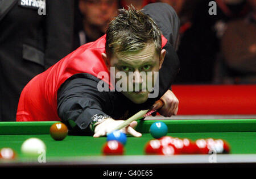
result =
[[[169,136],[189,138],[224,139],[230,145],[230,154],[217,154],[214,160],[209,155],[144,155],[144,145],[153,139],[148,133],[152,123],[158,119],[139,120],[136,130],[141,138],[128,136],[123,156],[103,156],[102,145],[106,137],[68,135],[62,141],[55,141],[49,135],[49,128],[55,122],[1,122],[0,148],[10,147],[16,152],[16,159],[0,161],[0,167],[9,166],[243,166],[256,164],[256,119],[172,119],[160,121],[168,126]],[[46,161],[30,161],[24,157],[20,147],[28,138],[39,138],[47,146]]]

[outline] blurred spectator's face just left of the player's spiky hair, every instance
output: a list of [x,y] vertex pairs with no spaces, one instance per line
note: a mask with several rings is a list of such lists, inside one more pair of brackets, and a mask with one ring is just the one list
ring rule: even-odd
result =
[[117,15],[117,0],[80,0],[79,9],[84,15],[86,23],[104,28]]

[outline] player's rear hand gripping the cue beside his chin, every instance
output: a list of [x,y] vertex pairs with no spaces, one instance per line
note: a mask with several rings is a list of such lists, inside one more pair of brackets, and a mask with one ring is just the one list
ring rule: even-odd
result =
[[165,117],[170,117],[177,114],[179,108],[179,100],[176,98],[171,90],[166,91],[166,93],[164,93],[164,95],[160,99],[162,99],[164,105],[159,110],[155,109],[158,110],[159,114]]

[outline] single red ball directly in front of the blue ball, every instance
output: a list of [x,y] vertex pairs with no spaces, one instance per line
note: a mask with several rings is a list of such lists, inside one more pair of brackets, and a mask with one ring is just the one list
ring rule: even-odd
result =
[[123,155],[123,145],[117,140],[109,140],[103,145],[102,153],[104,155]]

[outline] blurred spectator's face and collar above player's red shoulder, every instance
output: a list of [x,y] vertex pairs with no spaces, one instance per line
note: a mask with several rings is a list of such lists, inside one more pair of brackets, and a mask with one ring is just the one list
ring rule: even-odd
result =
[[110,20],[118,13],[117,0],[79,0],[78,6],[82,14],[82,29],[75,38],[75,48],[95,41],[105,34]]

